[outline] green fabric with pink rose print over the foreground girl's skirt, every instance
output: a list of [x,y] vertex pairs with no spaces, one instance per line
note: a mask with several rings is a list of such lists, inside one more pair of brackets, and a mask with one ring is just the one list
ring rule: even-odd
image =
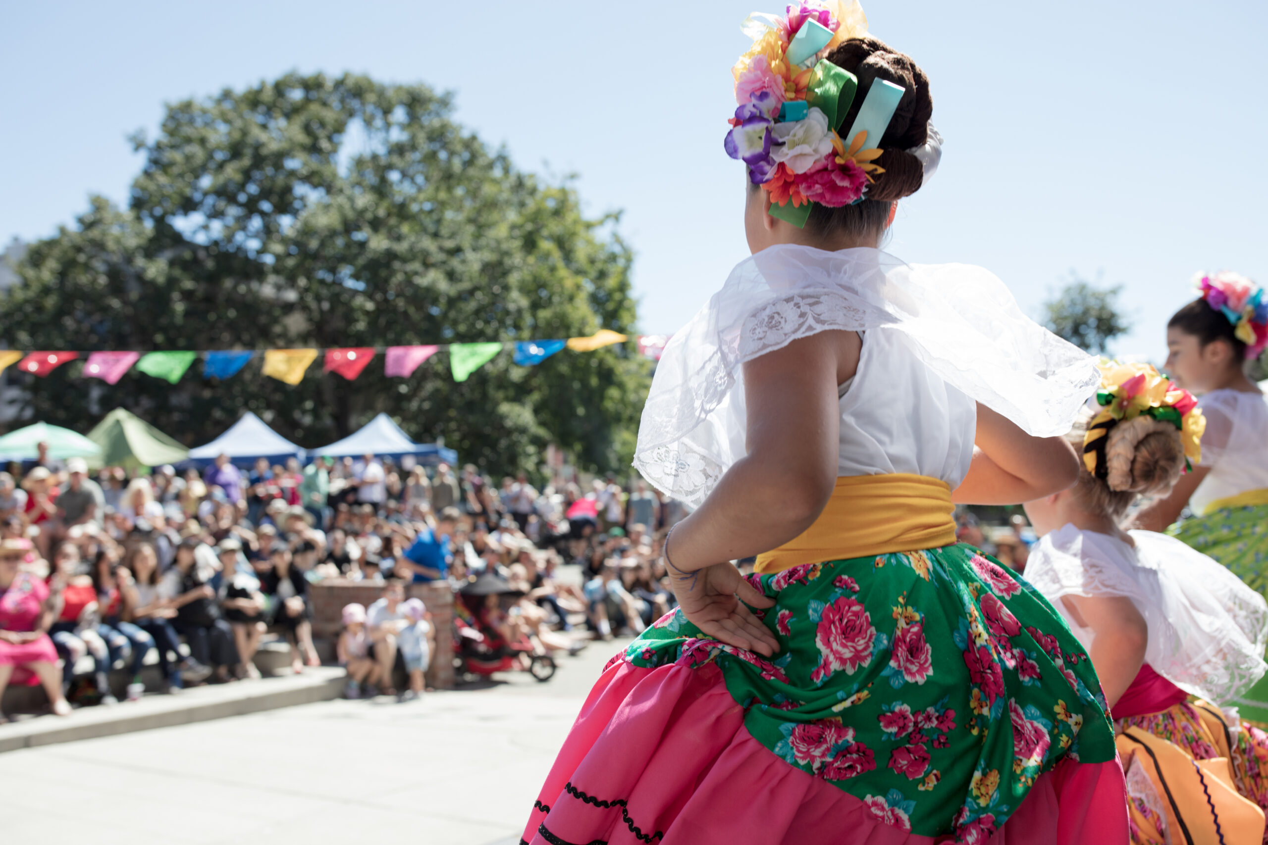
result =
[[781,651],[702,637],[680,611],[624,654],[716,665],[744,726],[886,825],[984,842],[1064,758],[1115,759],[1092,664],[1052,608],[969,546],[751,576]]

